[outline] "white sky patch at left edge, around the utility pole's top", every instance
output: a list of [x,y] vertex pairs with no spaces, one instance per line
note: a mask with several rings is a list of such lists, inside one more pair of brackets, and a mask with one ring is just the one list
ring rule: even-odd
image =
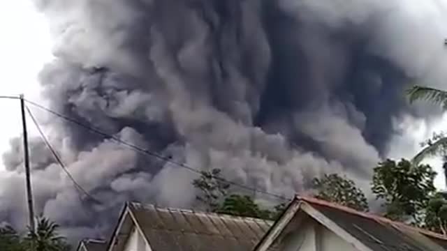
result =
[[[30,0],[0,1],[0,96],[24,93],[39,100],[38,73],[52,59],[50,29],[45,17]],[[20,103],[0,99],[2,114],[0,153],[8,149],[9,139],[20,135]],[[29,121],[29,127],[33,125]],[[0,170],[3,169],[0,165]]]

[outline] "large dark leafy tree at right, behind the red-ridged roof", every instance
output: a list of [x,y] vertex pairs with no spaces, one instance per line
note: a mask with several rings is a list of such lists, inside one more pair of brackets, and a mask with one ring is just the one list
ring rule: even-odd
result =
[[428,202],[436,192],[435,176],[430,165],[412,165],[404,159],[398,163],[386,160],[374,168],[372,192],[385,201],[387,218],[421,225]]

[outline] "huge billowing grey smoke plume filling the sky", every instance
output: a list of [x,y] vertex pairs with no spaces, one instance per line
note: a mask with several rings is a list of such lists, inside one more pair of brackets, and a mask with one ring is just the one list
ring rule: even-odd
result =
[[[404,89],[447,79],[437,0],[38,0],[56,40],[41,73],[50,109],[196,169],[291,196],[326,172],[360,184]],[[36,111],[36,110],[34,110]],[[190,206],[196,174],[54,116],[39,116],[80,195],[31,140],[38,212],[97,236],[126,200]],[[26,222],[22,148],[3,156],[0,218]]]

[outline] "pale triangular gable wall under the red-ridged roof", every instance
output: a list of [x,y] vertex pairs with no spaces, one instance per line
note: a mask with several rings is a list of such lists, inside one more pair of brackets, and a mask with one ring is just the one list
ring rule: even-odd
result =
[[305,222],[281,240],[284,251],[358,251],[314,220]]

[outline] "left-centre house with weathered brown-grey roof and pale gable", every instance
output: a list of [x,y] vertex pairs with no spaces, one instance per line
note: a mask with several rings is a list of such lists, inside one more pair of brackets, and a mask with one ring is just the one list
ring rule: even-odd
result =
[[106,250],[251,251],[272,224],[254,218],[127,203]]

